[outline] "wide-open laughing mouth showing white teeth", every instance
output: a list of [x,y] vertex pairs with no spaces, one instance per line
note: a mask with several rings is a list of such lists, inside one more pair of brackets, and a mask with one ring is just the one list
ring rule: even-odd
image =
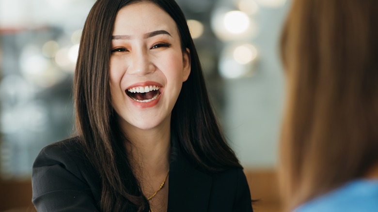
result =
[[158,86],[138,86],[126,90],[126,94],[137,102],[151,102],[160,96],[160,87]]

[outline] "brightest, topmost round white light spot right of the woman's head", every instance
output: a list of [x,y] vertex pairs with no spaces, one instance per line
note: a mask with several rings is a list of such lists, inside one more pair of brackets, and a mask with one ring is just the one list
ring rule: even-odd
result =
[[250,26],[248,15],[241,11],[230,11],[224,16],[224,27],[233,34],[245,32]]

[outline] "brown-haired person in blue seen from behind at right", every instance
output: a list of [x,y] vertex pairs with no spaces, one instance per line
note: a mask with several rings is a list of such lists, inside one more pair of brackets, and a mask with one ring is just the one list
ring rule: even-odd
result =
[[282,35],[287,210],[378,211],[378,1],[293,0]]

